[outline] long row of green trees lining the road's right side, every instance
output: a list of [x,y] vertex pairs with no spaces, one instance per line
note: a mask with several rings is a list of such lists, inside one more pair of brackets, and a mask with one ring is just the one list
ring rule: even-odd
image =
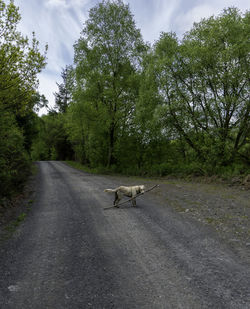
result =
[[228,8],[150,46],[123,1],[97,4],[33,159],[130,174],[249,172],[249,37],[249,12]]

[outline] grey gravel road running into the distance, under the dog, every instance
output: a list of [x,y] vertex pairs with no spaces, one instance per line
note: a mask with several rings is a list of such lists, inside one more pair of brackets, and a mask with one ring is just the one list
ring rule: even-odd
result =
[[170,207],[161,186],[103,210],[104,189],[140,183],[38,167],[32,209],[0,244],[1,309],[250,308],[250,261]]

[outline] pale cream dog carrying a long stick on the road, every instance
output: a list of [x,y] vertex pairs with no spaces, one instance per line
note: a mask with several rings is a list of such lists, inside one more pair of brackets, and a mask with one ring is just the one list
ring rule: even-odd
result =
[[144,193],[145,191],[145,186],[140,185],[140,186],[131,186],[131,187],[125,187],[125,186],[120,186],[116,189],[105,189],[104,192],[113,192],[115,193],[115,200],[114,200],[114,206],[119,207],[119,202],[122,198],[122,196],[128,196],[132,197],[132,206],[136,206],[136,195],[139,193]]

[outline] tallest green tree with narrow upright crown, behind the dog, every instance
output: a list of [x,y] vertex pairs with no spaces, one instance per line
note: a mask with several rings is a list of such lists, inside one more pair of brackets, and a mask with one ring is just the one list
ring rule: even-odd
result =
[[128,124],[134,111],[143,51],[140,31],[129,6],[121,0],[103,1],[92,8],[75,44],[74,98],[88,115],[86,135],[94,136],[102,150],[106,148],[108,166],[115,163],[118,131]]

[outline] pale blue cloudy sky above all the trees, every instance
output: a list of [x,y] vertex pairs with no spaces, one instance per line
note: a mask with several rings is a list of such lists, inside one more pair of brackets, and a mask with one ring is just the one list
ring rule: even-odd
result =
[[[6,3],[9,1],[6,0]],[[61,83],[61,72],[73,62],[73,44],[79,38],[91,7],[98,0],[15,0],[22,20],[20,31],[31,37],[35,31],[40,50],[49,45],[46,69],[39,75],[39,91],[53,106],[53,93]],[[234,6],[245,12],[249,0],[124,0],[129,3],[137,27],[145,41],[153,43],[161,31],[173,31],[181,38],[193,22],[219,14]]]

